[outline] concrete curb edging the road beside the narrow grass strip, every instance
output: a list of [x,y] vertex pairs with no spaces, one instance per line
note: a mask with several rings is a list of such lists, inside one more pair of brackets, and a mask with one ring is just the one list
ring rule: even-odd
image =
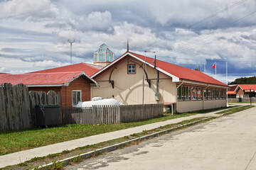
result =
[[[162,130],[162,131],[159,131],[159,132],[154,132],[150,135],[145,135],[143,137],[138,137],[136,139],[133,139],[133,140],[128,140],[126,142],[122,142],[122,143],[119,143],[119,144],[115,144],[115,145],[111,145],[111,146],[108,146],[108,147],[104,147],[104,148],[101,148],[101,149],[97,149],[95,151],[91,151],[91,152],[86,152],[84,154],[80,154],[80,155],[76,155],[76,156],[73,156],[73,157],[69,157],[69,158],[66,158],[66,159],[62,159],[62,160],[59,160],[57,161],[56,163],[63,163],[63,166],[66,166],[68,165],[70,162],[72,162],[74,159],[87,159],[87,158],[90,158],[90,157],[93,157],[93,156],[97,156],[99,154],[102,154],[104,152],[112,152],[116,149],[118,149],[119,147],[124,147],[125,145],[127,144],[130,144],[132,142],[137,142],[137,141],[142,141],[142,140],[148,140],[149,138],[151,137],[157,137],[158,135],[162,135],[164,133],[167,133],[167,132],[171,132],[171,131],[174,131],[178,128],[182,128],[184,126],[191,126],[191,125],[194,125],[196,123],[200,123],[204,120],[209,120],[211,118],[215,118],[215,117],[209,117],[209,118],[204,118],[202,120],[197,120],[195,122],[192,122],[192,123],[187,123],[187,124],[184,124],[184,125],[178,125],[177,127],[175,128],[170,128],[170,129],[167,129],[167,130]],[[49,163],[49,164],[44,164],[42,166],[39,166],[37,169],[43,169],[43,168],[46,168],[47,166],[53,166],[53,163]],[[33,169],[35,170],[35,169]]]

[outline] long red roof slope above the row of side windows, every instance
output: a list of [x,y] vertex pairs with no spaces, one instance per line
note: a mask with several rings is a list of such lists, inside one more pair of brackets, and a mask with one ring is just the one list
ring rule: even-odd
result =
[[[145,56],[138,55],[134,52],[129,52],[132,55],[139,57],[141,60],[145,60]],[[154,59],[150,57],[146,57],[146,62],[149,62],[149,64],[154,65]],[[226,84],[223,84],[222,82],[213,79],[213,77],[209,77],[207,74],[204,74],[203,72],[196,71],[193,69],[188,69],[186,67],[181,67],[176,64],[171,64],[169,62],[163,62],[161,60],[156,60],[156,67],[159,67],[160,69],[163,69],[165,72],[168,72],[169,74],[172,74],[179,79],[184,80],[191,80],[191,81],[198,81],[203,82],[207,84],[216,84],[220,86],[228,86]]]

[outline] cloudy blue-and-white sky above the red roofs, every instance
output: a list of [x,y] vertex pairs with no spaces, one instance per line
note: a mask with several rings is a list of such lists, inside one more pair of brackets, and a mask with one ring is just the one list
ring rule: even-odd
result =
[[[0,0],[0,73],[92,63],[105,43],[224,83],[256,75],[255,0]],[[228,79],[226,79],[228,65]],[[206,68],[206,69],[205,69]]]

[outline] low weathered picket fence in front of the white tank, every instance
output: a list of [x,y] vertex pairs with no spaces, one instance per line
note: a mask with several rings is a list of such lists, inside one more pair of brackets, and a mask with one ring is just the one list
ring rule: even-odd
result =
[[163,104],[64,108],[64,123],[90,125],[129,123],[159,117],[163,113]]

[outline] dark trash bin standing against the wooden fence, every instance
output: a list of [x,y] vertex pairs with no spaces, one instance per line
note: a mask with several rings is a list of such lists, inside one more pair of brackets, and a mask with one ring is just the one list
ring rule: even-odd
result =
[[59,125],[60,105],[37,105],[36,123],[38,126]]

